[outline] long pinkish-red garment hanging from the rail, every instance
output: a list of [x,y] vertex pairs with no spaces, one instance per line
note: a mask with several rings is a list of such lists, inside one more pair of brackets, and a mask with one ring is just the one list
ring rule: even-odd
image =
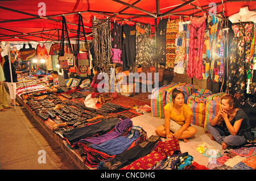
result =
[[189,37],[189,56],[187,64],[187,74],[189,78],[196,76],[197,79],[202,79],[202,56],[204,47],[204,30],[205,19],[192,18],[191,32]]

